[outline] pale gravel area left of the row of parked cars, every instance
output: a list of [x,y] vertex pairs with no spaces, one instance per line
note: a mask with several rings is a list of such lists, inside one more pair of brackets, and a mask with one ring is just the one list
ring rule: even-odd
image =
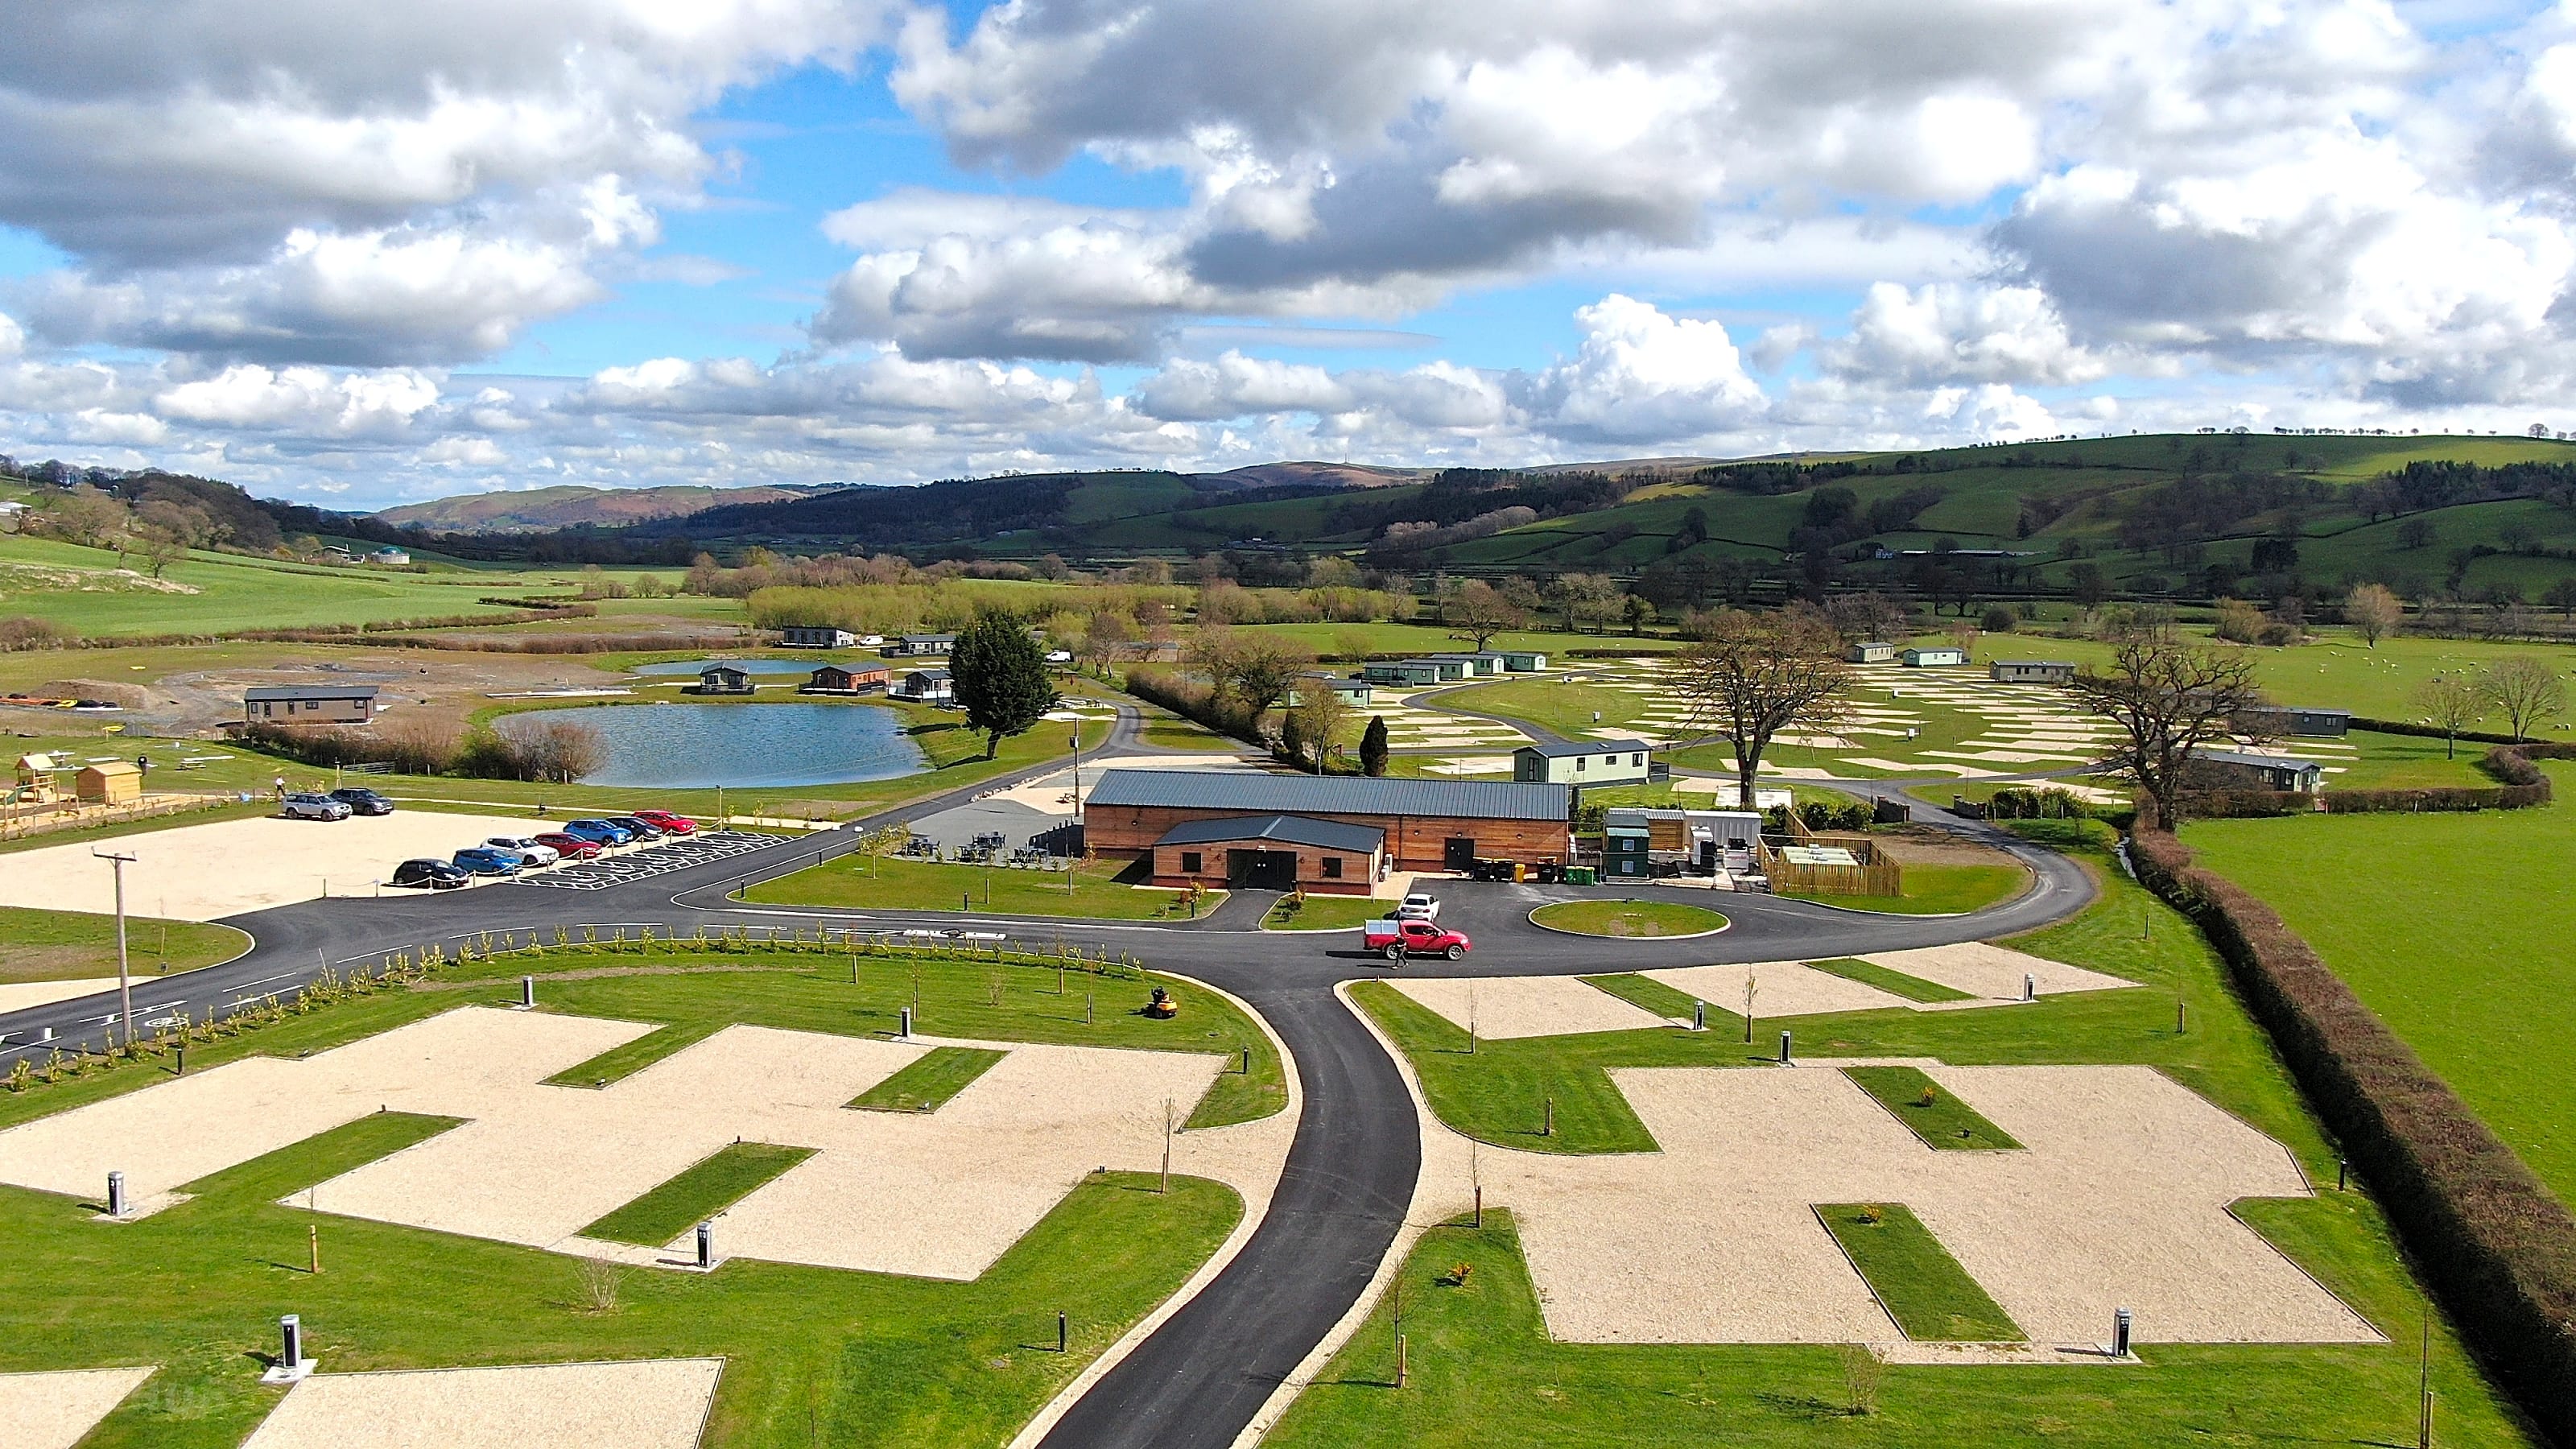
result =
[[[376,882],[412,856],[440,861],[489,835],[536,835],[551,825],[500,815],[438,815],[397,810],[348,820],[222,820],[118,835],[113,848],[134,856],[126,866],[126,913],[167,920],[219,920],[245,910],[317,900],[322,895],[376,895]],[[116,877],[90,856],[90,841],[41,846],[8,856],[0,869],[0,905],[41,910],[116,910]],[[389,895],[394,887],[384,887]]]

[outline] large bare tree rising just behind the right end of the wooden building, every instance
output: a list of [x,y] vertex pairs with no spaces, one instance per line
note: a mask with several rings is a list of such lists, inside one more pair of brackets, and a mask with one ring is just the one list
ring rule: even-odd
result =
[[1814,614],[1744,614],[1726,608],[1703,637],[1672,655],[1672,694],[1690,706],[1687,727],[1723,735],[1736,748],[1736,786],[1754,797],[1762,750],[1783,730],[1832,730],[1842,722],[1842,639]]

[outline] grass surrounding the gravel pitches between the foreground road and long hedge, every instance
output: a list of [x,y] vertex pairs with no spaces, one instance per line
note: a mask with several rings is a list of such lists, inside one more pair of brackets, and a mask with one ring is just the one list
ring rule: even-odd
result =
[[[2048,828],[2063,841],[2081,828]],[[2087,853],[2102,900],[2017,949],[2125,975],[2146,990],[2045,998],[2032,1008],[1850,1013],[1795,1021],[1803,1052],[1927,1055],[1947,1062],[2151,1062],[2277,1137],[2313,1199],[2244,1201],[2239,1214],[2391,1333],[2388,1346],[2151,1346],[2143,1369],[2045,1372],[1855,1366],[1832,1346],[1587,1346],[1546,1336],[1510,1204],[1481,1230],[1435,1227],[1401,1269],[1409,1385],[1394,1390],[1394,1297],[1288,1413],[1270,1444],[1600,1444],[1865,1446],[1919,1444],[2414,1444],[2416,1325],[2427,1315],[2365,1194],[2331,1191],[2334,1150],[2298,1104],[2262,1034],[2236,1008],[2210,949],[2161,902]],[[1610,1091],[1607,1065],[1739,1065],[1759,1049],[1736,1029],[1613,1031],[1481,1042],[1391,990],[1355,993],[1406,1049],[1443,1122],[1522,1150],[1651,1150]],[[2192,1008],[2174,1031],[2174,1000]],[[1716,1003],[1713,1003],[1716,1006]],[[1765,1034],[1767,1036],[1767,1034]],[[1767,1042],[1765,1042],[1767,1047]],[[1556,1140],[1538,1137],[1553,1098]],[[1880,1256],[1873,1284],[1929,1284],[1935,1263]],[[1455,1269],[1468,1266],[1466,1281]],[[1911,1276],[1909,1276],[1911,1274]],[[1929,1292],[1947,1315],[1960,1302]],[[1973,1305],[1971,1305],[1973,1307]],[[1911,1305],[1909,1305],[1909,1312]],[[1945,1328],[1947,1330],[1947,1328]],[[2524,1444],[2458,1343],[2434,1330],[2437,1444]],[[2321,1395],[2318,1385],[2334,1392]]]

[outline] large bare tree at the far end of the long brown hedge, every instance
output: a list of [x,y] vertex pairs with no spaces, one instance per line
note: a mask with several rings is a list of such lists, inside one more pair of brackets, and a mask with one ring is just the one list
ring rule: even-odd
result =
[[2169,624],[2120,634],[2110,668],[2069,688],[2120,730],[2107,763],[2138,781],[2166,830],[2182,820],[2192,750],[2231,743],[2233,717],[2264,704],[2251,657],[2187,645]]

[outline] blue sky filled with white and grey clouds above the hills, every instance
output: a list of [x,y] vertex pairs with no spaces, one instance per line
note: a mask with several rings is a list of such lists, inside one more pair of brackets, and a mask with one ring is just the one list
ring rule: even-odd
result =
[[384,508],[2568,431],[2571,5],[23,8],[0,454]]

